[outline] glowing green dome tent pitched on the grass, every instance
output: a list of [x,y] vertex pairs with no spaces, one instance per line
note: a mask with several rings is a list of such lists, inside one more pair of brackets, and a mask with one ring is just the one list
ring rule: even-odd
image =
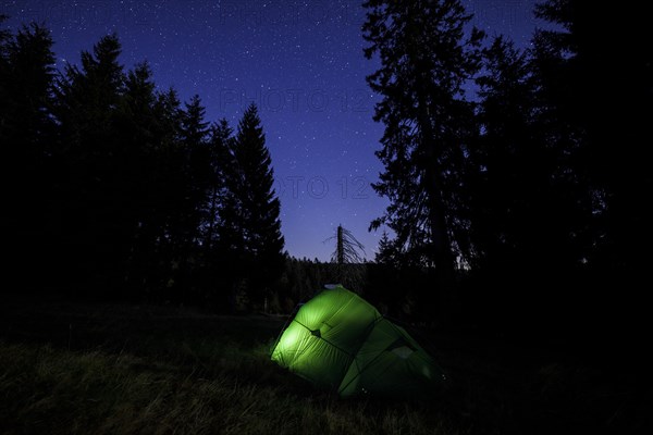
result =
[[342,286],[301,306],[276,341],[272,360],[342,397],[412,396],[445,380],[404,328]]

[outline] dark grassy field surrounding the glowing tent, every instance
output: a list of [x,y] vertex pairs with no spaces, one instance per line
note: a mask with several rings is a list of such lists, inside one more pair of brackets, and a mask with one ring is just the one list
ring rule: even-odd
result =
[[488,339],[432,337],[452,385],[431,400],[343,400],[269,360],[284,318],[20,301],[0,313],[2,434],[632,433],[646,411],[600,369]]

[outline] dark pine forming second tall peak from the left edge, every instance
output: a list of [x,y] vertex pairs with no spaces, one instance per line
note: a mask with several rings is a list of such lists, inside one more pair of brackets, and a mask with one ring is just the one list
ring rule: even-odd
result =
[[116,111],[125,75],[121,46],[106,36],[93,53],[82,52],[82,66],[66,65],[59,80],[57,117],[62,159],[62,266],[73,277],[114,286],[124,278],[131,235],[123,220],[122,163]]

